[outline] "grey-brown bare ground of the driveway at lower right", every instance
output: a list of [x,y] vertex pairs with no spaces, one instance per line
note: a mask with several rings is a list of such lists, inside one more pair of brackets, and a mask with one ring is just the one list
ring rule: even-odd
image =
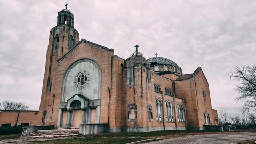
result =
[[186,135],[184,137],[153,141],[148,143],[237,143],[244,140],[256,139],[256,133],[252,132],[231,132],[227,134],[206,134],[206,135]]

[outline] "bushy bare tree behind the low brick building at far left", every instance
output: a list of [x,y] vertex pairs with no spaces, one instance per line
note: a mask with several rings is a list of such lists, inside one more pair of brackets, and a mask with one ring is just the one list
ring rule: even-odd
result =
[[28,110],[24,102],[2,101],[0,102],[0,110]]

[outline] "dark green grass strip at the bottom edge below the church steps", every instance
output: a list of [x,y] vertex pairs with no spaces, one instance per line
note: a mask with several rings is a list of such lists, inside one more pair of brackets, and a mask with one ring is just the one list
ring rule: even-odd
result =
[[36,143],[129,143],[145,140],[145,138],[75,138],[75,139],[59,139],[47,140]]

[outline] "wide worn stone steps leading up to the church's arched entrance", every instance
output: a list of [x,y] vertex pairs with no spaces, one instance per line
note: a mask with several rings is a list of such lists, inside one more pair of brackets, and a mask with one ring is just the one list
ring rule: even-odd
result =
[[40,137],[69,137],[76,136],[79,129],[52,129],[52,130],[38,130],[23,138],[40,138]]

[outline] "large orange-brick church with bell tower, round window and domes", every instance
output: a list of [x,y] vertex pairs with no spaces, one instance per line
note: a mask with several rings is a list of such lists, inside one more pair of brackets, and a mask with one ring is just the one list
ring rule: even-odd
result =
[[[145,59],[135,48],[123,59],[114,49],[80,40],[66,6],[50,31],[41,103],[30,125],[107,124],[109,132],[219,125],[200,67],[183,74],[172,60],[157,55]],[[2,120],[0,115],[0,124]]]

